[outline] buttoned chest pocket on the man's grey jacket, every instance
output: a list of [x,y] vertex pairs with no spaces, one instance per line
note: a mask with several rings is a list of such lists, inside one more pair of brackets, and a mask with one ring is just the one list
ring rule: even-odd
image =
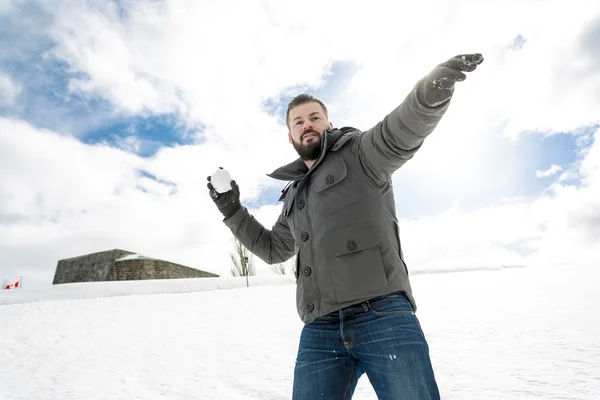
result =
[[327,166],[323,166],[319,174],[313,177],[311,185],[325,213],[334,213],[362,198],[341,157],[336,157]]

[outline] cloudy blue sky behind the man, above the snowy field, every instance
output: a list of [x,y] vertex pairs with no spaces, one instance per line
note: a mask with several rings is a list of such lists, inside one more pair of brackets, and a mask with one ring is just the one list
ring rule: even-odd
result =
[[409,268],[600,261],[596,1],[0,0],[0,279],[113,248],[227,276],[207,176],[270,227],[293,96],[367,130],[464,53],[485,61],[393,176]]

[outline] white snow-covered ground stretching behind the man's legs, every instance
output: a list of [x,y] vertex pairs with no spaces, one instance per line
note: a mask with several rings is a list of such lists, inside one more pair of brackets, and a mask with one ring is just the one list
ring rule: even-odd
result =
[[[289,399],[292,282],[2,291],[0,399]],[[600,267],[422,274],[413,287],[443,399],[600,399]],[[354,399],[375,398],[363,376]]]

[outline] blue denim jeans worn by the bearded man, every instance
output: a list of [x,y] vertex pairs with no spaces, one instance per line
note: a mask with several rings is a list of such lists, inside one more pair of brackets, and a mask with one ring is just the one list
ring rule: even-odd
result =
[[429,346],[401,293],[306,324],[294,370],[293,399],[350,399],[363,373],[379,399],[440,398]]

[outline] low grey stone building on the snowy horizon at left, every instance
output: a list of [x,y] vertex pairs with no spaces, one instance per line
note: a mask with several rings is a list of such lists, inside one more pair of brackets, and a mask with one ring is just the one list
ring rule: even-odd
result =
[[145,257],[108,250],[58,261],[52,284],[144,279],[216,278],[219,275]]

